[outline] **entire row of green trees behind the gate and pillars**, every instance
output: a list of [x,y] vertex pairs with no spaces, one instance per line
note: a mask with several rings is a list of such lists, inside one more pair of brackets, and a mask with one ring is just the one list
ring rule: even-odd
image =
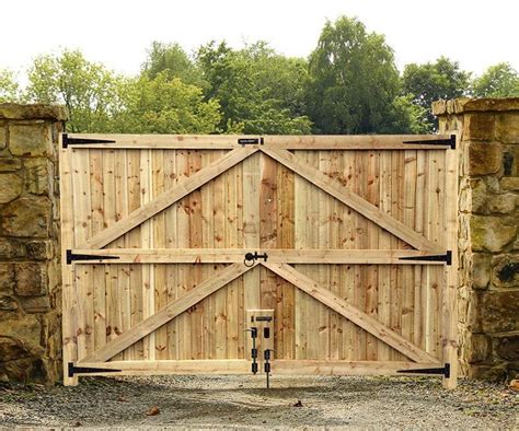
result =
[[472,78],[440,57],[400,74],[384,36],[347,16],[325,23],[308,59],[265,42],[212,40],[191,54],[153,42],[136,75],[64,50],[37,57],[27,78],[23,86],[0,69],[0,103],[66,105],[74,132],[423,133],[436,130],[436,100],[519,96],[506,62]]

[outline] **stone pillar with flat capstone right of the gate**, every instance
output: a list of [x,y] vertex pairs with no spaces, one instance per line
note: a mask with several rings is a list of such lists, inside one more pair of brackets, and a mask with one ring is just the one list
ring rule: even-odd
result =
[[459,328],[462,372],[519,373],[519,98],[432,104],[460,144]]

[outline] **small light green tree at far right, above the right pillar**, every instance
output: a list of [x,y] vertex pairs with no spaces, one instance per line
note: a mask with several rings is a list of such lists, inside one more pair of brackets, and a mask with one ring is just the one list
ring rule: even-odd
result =
[[519,74],[508,62],[491,66],[472,83],[476,97],[519,97]]

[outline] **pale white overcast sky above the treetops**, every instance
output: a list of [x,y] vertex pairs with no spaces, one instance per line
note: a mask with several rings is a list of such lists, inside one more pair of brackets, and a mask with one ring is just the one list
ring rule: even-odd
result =
[[0,68],[21,71],[67,47],[136,73],[152,40],[191,53],[211,39],[264,39],[307,57],[325,21],[342,14],[384,34],[400,69],[446,55],[476,73],[500,61],[519,70],[519,0],[4,0]]

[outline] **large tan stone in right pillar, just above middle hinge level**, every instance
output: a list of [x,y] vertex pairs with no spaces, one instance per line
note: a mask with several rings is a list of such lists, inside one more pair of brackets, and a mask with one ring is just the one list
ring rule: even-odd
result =
[[473,215],[471,218],[472,248],[475,252],[497,253],[514,242],[517,221],[503,217]]

